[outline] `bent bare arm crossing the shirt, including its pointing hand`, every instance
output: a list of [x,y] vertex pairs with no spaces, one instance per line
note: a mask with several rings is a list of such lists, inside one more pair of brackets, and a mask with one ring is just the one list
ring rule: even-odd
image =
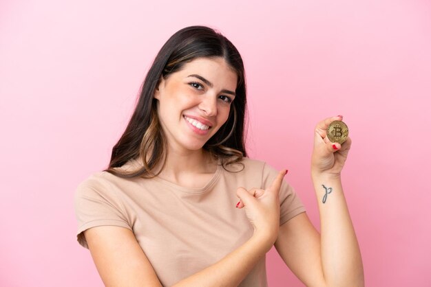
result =
[[[262,196],[259,198],[254,198],[241,187],[238,189],[237,195],[255,227],[253,236],[222,260],[174,286],[238,286],[242,282],[277,238],[280,220],[278,192],[285,173],[280,172],[269,190],[260,190]],[[87,229],[84,234],[105,286],[161,286],[131,230],[103,226]]]

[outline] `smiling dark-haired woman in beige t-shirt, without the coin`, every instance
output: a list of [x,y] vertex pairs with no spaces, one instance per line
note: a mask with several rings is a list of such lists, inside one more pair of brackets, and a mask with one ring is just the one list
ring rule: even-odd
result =
[[267,286],[273,245],[307,286],[364,285],[340,178],[351,141],[326,137],[342,117],[315,128],[319,234],[287,170],[246,157],[245,111],[244,65],[227,38],[202,26],[169,38],[109,168],[76,190],[78,242],[106,286]]

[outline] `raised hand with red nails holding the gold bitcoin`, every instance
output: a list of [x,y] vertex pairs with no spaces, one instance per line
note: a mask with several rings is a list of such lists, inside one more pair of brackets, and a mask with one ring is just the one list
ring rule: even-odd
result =
[[333,143],[328,139],[326,129],[331,122],[341,121],[342,119],[341,115],[328,117],[315,127],[314,148],[311,156],[312,176],[328,175],[339,177],[341,175],[352,140],[347,137],[342,145]]

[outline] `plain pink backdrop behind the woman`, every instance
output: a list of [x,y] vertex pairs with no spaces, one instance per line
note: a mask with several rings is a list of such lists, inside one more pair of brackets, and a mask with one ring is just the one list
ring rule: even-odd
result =
[[[288,168],[319,226],[313,128],[344,115],[343,181],[367,286],[431,286],[431,3],[0,3],[0,285],[103,286],[78,246],[74,189],[105,168],[151,61],[187,25],[238,47],[252,157]],[[268,255],[270,286],[303,286]]]

